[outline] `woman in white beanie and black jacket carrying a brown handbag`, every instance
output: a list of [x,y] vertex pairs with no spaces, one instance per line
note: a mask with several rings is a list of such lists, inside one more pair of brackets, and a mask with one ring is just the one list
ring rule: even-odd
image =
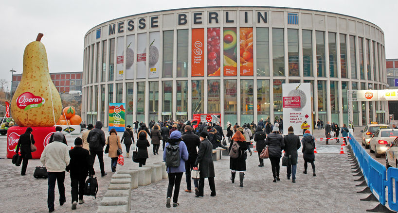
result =
[[279,163],[282,157],[282,148],[285,147],[283,137],[279,133],[279,125],[276,124],[272,128],[272,132],[268,134],[267,138],[265,139],[265,145],[268,146],[268,152],[270,155],[273,182],[280,180]]

